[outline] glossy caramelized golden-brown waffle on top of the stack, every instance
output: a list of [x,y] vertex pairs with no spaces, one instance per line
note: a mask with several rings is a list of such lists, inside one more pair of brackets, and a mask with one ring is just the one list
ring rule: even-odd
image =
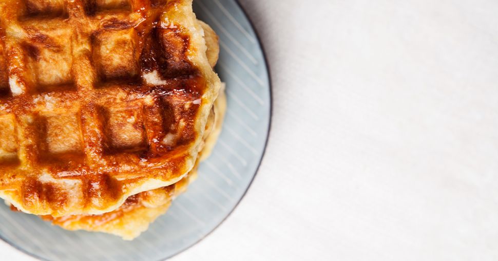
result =
[[0,197],[102,214],[193,167],[220,80],[191,0],[0,2]]

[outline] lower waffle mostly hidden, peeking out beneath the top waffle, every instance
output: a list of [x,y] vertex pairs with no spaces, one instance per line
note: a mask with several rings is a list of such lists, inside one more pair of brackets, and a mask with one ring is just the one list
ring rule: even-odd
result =
[[[214,67],[219,53],[218,36],[208,25],[201,21],[199,23],[205,34],[209,64]],[[168,187],[130,196],[118,209],[101,215],[41,216],[42,219],[67,230],[105,232],[121,236],[126,240],[139,236],[147,230],[151,222],[167,211],[171,200],[183,193],[187,185],[195,180],[198,163],[206,159],[212,151],[221,132],[226,111],[226,97],[223,89],[224,87],[220,90],[209,114],[201,144],[202,150],[199,152],[196,164],[180,181]]]

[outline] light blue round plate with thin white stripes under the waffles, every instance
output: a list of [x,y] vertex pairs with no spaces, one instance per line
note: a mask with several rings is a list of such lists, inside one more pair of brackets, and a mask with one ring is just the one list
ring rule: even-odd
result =
[[65,231],[6,206],[0,207],[2,239],[42,260],[156,261],[193,246],[234,210],[265,149],[271,118],[269,74],[254,29],[234,0],[194,2],[197,16],[220,36],[216,69],[226,82],[228,98],[223,132],[213,155],[200,165],[198,179],[133,241]]

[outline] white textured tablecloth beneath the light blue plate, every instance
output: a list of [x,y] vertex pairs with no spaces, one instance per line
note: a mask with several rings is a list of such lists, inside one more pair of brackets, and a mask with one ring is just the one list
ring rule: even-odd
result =
[[270,142],[175,260],[498,259],[497,1],[241,4],[272,70]]

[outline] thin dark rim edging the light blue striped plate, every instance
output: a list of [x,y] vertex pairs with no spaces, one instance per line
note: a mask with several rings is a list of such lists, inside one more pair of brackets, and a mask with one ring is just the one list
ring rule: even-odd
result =
[[[237,203],[235,204],[235,206],[232,208],[232,210],[230,212],[228,212],[228,214],[212,229],[210,230],[208,233],[206,233],[204,236],[200,237],[197,241],[195,241],[193,244],[187,246],[186,248],[178,251],[177,253],[173,254],[173,255],[169,255],[167,257],[164,257],[164,258],[161,258],[161,259],[158,259],[157,261],[164,261],[164,260],[167,260],[169,258],[172,258],[172,257],[175,257],[187,250],[189,250],[190,248],[196,246],[197,244],[199,244],[202,240],[204,240],[206,237],[208,237],[209,235],[211,235],[215,230],[217,230],[225,221],[226,219],[228,219],[229,216],[232,215],[232,213],[234,213],[234,211],[237,209],[237,207],[239,206],[240,202],[244,199],[245,195],[247,194],[247,192],[249,191],[249,189],[251,188],[253,182],[254,182],[254,179],[256,178],[256,175],[258,175],[258,172],[259,172],[259,169],[261,167],[261,163],[263,162],[263,158],[264,156],[266,155],[266,149],[268,147],[268,141],[270,140],[270,133],[271,133],[271,130],[272,130],[272,122],[273,122],[273,81],[272,81],[272,73],[271,73],[271,68],[270,68],[270,64],[268,62],[268,57],[267,57],[267,54],[266,54],[266,50],[264,49],[264,46],[263,46],[263,43],[261,42],[261,36],[258,32],[258,30],[256,29],[256,27],[254,26],[254,22],[253,20],[251,19],[251,17],[247,14],[247,11],[245,10],[245,8],[240,4],[239,0],[234,0],[234,3],[238,6],[238,8],[240,10],[242,10],[242,13],[244,14],[245,18],[247,19],[247,21],[249,22],[249,24],[251,25],[251,29],[254,31],[254,34],[256,36],[256,41],[258,43],[258,46],[259,46],[259,49],[261,50],[261,53],[262,53],[262,56],[263,56],[263,61],[264,61],[264,66],[266,68],[266,74],[268,76],[268,89],[269,89],[269,101],[270,101],[270,107],[269,107],[269,119],[268,119],[268,128],[266,130],[266,138],[265,138],[265,141],[264,141],[264,146],[263,146],[263,151],[261,153],[261,157],[259,159],[259,162],[258,162],[258,166],[256,167],[256,170],[254,172],[254,175],[253,177],[251,178],[251,180],[249,181],[249,183],[247,184],[247,188],[245,189],[245,191],[242,193],[242,196],[240,197],[240,199],[237,201]],[[5,243],[7,243],[9,246],[13,247],[14,249],[16,249],[17,251],[23,253],[23,254],[26,254],[30,257],[33,257],[33,258],[36,258],[36,259],[39,259],[41,261],[52,261],[52,260],[49,260],[49,259],[46,259],[44,257],[41,257],[39,255],[36,255],[35,253],[31,253],[31,252],[28,252],[27,250],[21,248],[21,246],[18,246],[16,244],[14,244],[13,242],[11,242],[9,239],[5,238],[4,236],[2,236],[2,234],[0,234],[0,240],[4,241]]]

